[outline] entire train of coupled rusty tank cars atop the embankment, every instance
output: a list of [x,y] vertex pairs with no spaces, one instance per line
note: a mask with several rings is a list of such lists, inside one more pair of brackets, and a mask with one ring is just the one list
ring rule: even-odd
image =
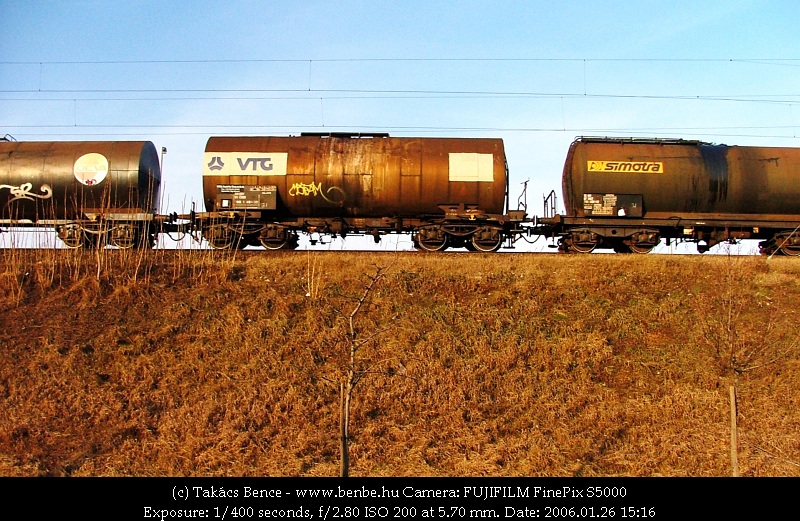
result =
[[647,253],[663,240],[702,253],[755,239],[762,254],[800,256],[800,148],[579,137],[562,173],[563,215],[554,190],[531,217],[524,190],[509,209],[501,139],[211,137],[197,173],[204,210],[161,215],[149,141],[0,139],[0,226],[52,227],[69,247],[152,247],[167,233],[281,250],[301,233],[312,244],[315,234],[410,234],[431,252],[548,236],[569,253]]

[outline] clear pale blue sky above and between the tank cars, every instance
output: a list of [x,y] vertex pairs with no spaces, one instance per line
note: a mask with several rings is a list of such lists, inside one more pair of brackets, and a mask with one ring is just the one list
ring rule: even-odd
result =
[[147,139],[165,211],[211,135],[501,137],[511,196],[578,135],[799,146],[796,1],[0,0],[0,135]]

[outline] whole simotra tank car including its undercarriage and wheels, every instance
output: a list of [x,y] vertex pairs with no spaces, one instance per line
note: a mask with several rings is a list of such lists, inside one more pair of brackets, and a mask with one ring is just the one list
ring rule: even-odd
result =
[[759,239],[762,253],[800,255],[797,148],[578,138],[562,188],[565,215],[541,219],[562,251],[646,253],[663,238],[703,252]]

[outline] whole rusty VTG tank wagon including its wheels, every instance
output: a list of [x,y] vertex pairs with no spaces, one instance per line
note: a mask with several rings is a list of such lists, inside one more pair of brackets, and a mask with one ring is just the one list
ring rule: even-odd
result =
[[426,251],[494,251],[524,215],[506,210],[503,141],[485,138],[211,137],[203,197],[200,227],[215,248],[410,232]]

